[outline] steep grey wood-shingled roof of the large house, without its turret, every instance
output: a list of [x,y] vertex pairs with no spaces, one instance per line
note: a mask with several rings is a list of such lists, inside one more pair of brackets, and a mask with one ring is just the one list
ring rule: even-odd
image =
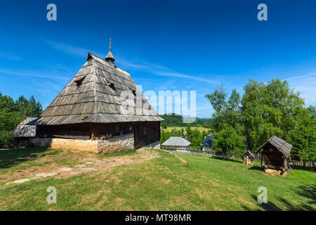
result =
[[[134,102],[125,100],[121,98],[123,91],[138,94],[138,98]],[[142,108],[141,105],[144,104],[147,107]],[[131,110],[126,110],[126,105],[129,105]],[[162,120],[141,94],[129,72],[88,53],[86,63],[41,114],[36,124]]]

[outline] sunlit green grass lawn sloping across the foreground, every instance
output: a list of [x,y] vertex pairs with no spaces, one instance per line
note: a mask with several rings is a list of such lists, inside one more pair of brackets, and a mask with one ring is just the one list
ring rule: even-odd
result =
[[[315,172],[293,169],[288,176],[270,175],[258,164],[179,154],[185,164],[170,153],[158,153],[152,160],[68,179],[2,182],[0,210],[316,210]],[[0,150],[0,180],[28,167],[49,167],[52,160],[71,166],[84,154]],[[57,189],[57,204],[46,203],[49,186]],[[257,203],[260,186],[268,188],[267,204]]]

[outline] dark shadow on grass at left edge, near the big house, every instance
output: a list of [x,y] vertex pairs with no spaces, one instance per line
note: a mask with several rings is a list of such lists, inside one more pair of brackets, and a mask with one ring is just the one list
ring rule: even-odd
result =
[[55,152],[48,151],[48,148],[11,148],[0,150],[0,169],[14,167],[22,162],[43,158],[46,155],[55,155]]

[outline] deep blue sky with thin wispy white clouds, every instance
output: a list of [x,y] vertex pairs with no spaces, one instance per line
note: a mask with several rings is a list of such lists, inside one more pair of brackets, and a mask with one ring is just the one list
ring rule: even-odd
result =
[[[57,6],[57,21],[46,6]],[[257,6],[268,6],[268,21]],[[316,105],[315,1],[1,1],[0,91],[34,95],[44,108],[86,61],[112,53],[143,91],[197,91],[204,98],[249,78],[287,79]]]

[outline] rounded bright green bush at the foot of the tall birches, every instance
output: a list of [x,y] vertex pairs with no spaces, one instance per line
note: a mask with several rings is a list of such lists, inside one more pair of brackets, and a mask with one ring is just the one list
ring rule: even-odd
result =
[[226,153],[237,153],[242,155],[246,149],[246,138],[237,134],[232,127],[225,127],[213,134],[213,149]]

